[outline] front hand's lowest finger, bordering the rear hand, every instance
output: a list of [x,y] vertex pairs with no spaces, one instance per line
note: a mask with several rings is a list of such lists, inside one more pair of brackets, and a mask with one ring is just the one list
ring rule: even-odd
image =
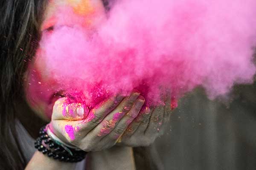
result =
[[144,102],[145,102],[144,97],[139,96],[134,106],[131,108],[131,110],[127,114],[125,114],[125,116],[122,117],[122,119],[120,119],[120,121],[113,128],[113,130],[107,136],[105,136],[101,141],[103,143],[115,144],[119,139],[119,137],[122,136],[122,134],[128,128],[128,126],[131,125],[131,122],[133,122],[133,120],[140,113],[140,110]]

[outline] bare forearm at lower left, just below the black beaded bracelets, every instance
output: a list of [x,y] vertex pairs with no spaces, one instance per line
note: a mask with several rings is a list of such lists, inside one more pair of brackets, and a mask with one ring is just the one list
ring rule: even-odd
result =
[[25,170],[73,170],[76,163],[61,162],[36,151]]

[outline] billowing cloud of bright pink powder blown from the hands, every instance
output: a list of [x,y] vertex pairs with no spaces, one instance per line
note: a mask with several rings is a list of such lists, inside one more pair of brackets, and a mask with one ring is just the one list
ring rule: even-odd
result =
[[78,23],[44,33],[42,57],[51,79],[90,107],[134,88],[148,105],[198,85],[214,99],[253,82],[255,8],[255,0],[123,0],[93,34]]

